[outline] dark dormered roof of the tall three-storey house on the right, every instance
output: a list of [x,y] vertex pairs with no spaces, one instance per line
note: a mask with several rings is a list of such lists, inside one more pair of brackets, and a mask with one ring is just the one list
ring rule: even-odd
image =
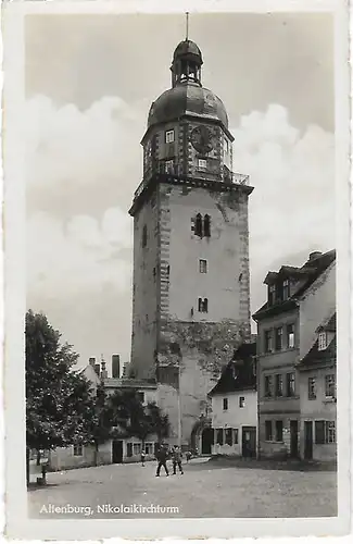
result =
[[254,314],[253,319],[260,321],[263,318],[270,316],[276,316],[283,311],[289,311],[298,306],[298,300],[306,293],[306,290],[313,285],[313,283],[319,277],[319,275],[328,269],[328,267],[336,260],[336,250],[331,249],[326,254],[316,252],[312,255],[308,260],[301,267],[281,267],[278,273],[268,272],[265,277],[264,283],[269,284],[278,279],[279,274],[282,275],[285,272],[289,277],[302,279],[303,282],[300,283],[299,288],[291,295],[291,297],[283,301],[278,301],[274,305],[268,305],[265,302]]

